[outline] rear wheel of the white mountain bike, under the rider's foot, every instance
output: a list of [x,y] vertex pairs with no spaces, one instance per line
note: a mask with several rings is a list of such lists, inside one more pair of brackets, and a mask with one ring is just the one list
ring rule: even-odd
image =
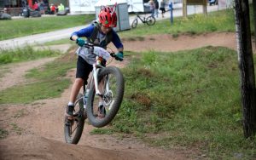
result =
[[72,120],[65,117],[64,134],[66,143],[78,144],[84,129],[84,102],[83,94],[78,94],[74,106],[74,117]]

